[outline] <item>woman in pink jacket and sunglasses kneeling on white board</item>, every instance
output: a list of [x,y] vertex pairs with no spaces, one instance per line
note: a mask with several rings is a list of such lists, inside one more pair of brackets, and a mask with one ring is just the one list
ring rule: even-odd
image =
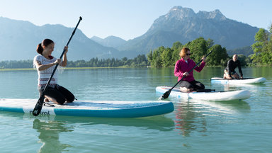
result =
[[[193,71],[188,73],[193,67],[196,66],[196,63],[190,59],[191,51],[187,47],[183,47],[181,52],[179,52],[179,56],[181,56],[181,60],[178,60],[175,65],[174,75],[179,77],[178,81],[181,80],[183,76],[183,80],[179,83],[181,87],[181,91],[193,91],[198,89],[205,89],[204,84],[196,81],[193,78]],[[203,62],[201,62],[199,67],[196,67],[195,70],[200,72],[205,66],[206,57],[203,57]]]

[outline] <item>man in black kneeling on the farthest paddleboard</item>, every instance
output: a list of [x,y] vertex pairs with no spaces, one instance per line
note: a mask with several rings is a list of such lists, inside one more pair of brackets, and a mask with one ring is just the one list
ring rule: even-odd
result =
[[[235,72],[235,69],[238,67],[239,69],[239,74],[237,74],[237,72]],[[227,61],[227,67],[224,70],[224,79],[243,79],[243,72],[242,72],[242,68],[241,68],[241,63],[238,60],[238,56],[237,55],[233,55],[232,59]]]

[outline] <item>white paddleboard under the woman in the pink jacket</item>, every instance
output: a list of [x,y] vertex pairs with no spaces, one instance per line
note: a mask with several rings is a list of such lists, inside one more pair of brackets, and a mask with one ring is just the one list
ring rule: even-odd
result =
[[[156,92],[158,94],[164,94],[171,89],[171,86],[157,86]],[[242,100],[250,97],[250,92],[246,90],[239,91],[209,91],[209,92],[181,92],[179,88],[174,88],[169,96],[176,98],[192,98],[195,100],[203,101],[233,101]]]

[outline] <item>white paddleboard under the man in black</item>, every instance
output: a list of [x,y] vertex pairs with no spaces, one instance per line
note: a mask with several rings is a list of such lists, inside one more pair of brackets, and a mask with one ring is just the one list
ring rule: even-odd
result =
[[239,85],[239,84],[259,84],[266,81],[266,78],[259,77],[259,78],[244,78],[244,79],[223,79],[220,77],[212,77],[210,79],[212,84],[232,84],[232,85]]

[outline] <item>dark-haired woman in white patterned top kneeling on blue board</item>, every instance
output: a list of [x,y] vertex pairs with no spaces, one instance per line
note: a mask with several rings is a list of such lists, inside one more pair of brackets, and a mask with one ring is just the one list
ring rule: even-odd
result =
[[[65,52],[63,60],[57,59],[51,55],[54,47],[55,42],[52,40],[42,40],[42,43],[40,43],[37,47],[37,52],[39,55],[36,55],[33,60],[33,64],[38,70],[38,91],[40,92],[40,96],[42,95],[47,81],[50,79],[51,74],[55,68],[53,66],[60,64],[60,66],[66,67],[67,65],[68,47],[64,47]],[[48,84],[44,94],[45,101],[53,101],[57,104],[74,101],[74,95],[69,90],[57,84],[57,74],[54,74],[52,77],[52,80],[50,81],[50,84]]]

